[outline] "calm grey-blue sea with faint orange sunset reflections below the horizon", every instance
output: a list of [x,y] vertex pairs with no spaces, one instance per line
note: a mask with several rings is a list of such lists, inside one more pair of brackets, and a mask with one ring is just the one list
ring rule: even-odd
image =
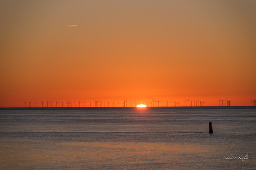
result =
[[0,110],[0,169],[256,169],[256,109]]

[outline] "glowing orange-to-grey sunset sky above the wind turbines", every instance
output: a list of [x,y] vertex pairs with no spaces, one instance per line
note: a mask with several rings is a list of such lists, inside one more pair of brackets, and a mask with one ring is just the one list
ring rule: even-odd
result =
[[0,107],[46,99],[250,105],[255,20],[254,0],[0,1]]

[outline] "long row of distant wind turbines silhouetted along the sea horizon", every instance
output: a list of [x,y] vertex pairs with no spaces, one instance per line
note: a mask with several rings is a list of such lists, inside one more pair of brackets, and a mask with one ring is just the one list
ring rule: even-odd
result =
[[[219,107],[229,107],[231,100],[229,99],[219,99],[218,101]],[[45,105],[46,103],[46,105]],[[51,104],[51,105],[50,105]],[[61,104],[61,105],[58,105]],[[31,107],[136,107],[139,104],[146,105],[147,107],[205,107],[205,101],[202,99],[184,99],[184,101],[176,101],[176,100],[160,100],[160,99],[152,99],[151,101],[140,101],[140,100],[115,100],[115,101],[105,101],[105,100],[88,100],[88,101],[76,101],[68,99],[66,101],[48,101],[41,100],[41,105],[37,104],[37,101],[31,102],[29,100],[23,102],[23,106],[26,108]],[[248,100],[248,106],[256,106],[256,100],[250,99]]]

